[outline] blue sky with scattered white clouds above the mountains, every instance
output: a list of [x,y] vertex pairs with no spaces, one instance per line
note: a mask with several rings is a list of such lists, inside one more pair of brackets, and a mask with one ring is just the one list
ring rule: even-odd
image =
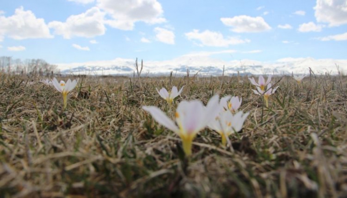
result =
[[0,1],[0,56],[52,64],[341,60],[346,41],[347,0]]

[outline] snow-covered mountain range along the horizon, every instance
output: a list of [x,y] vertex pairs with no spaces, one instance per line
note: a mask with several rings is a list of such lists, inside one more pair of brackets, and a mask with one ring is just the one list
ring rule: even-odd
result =
[[[138,61],[139,67],[141,61]],[[62,74],[83,75],[132,75],[135,71],[135,60],[116,58],[110,61],[93,61],[85,63],[57,64]],[[288,75],[308,74],[309,68],[315,74],[338,74],[347,72],[347,60],[283,58],[274,62],[261,62],[256,60],[223,61],[209,56],[181,56],[167,61],[144,61],[142,76],[185,75],[187,69],[191,75],[231,76],[239,72],[240,75]]]

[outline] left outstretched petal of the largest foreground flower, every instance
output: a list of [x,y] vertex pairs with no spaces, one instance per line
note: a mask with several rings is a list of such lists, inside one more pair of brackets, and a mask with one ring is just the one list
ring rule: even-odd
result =
[[164,125],[165,127],[177,134],[179,133],[179,129],[174,124],[173,120],[171,120],[167,115],[165,115],[165,113],[162,112],[162,110],[160,110],[158,107],[143,106],[142,109],[149,112],[152,115],[152,117],[160,124]]

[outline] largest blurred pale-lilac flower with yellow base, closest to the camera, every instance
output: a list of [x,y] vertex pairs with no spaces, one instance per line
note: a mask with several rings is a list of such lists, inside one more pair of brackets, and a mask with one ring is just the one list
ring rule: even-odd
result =
[[205,107],[201,101],[182,101],[175,112],[175,122],[155,106],[143,106],[152,117],[168,129],[176,133],[182,140],[183,151],[186,156],[191,155],[191,147],[196,134],[207,124],[216,119],[219,111],[219,96],[212,97]]

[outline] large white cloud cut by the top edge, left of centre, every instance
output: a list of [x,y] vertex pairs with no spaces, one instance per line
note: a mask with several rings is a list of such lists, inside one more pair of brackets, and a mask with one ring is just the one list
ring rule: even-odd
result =
[[134,23],[148,24],[166,22],[163,8],[157,0],[97,0],[97,5],[112,16],[105,23],[120,30],[132,30]]

